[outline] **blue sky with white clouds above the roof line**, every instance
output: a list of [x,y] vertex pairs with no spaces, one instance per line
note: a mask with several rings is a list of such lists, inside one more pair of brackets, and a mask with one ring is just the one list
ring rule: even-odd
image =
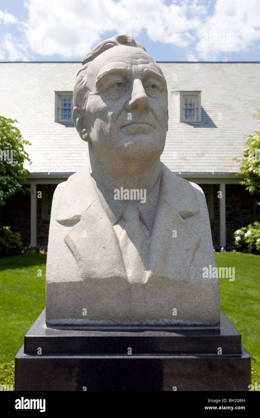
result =
[[156,61],[260,61],[260,0],[0,0],[0,61],[82,61],[116,33]]

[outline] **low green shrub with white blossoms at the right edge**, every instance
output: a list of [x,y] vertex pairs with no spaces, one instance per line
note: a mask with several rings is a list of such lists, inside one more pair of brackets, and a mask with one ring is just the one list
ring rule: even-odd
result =
[[241,252],[260,254],[260,222],[253,222],[234,232],[235,245]]

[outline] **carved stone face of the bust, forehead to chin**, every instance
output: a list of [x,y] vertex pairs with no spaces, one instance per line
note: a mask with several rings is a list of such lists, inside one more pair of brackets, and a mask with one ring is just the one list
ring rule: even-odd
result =
[[88,66],[84,125],[96,155],[154,162],[168,129],[167,85],[141,48],[114,46]]

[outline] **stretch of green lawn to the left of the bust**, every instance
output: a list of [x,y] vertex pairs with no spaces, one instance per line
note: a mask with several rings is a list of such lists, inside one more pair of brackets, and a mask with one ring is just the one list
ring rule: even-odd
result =
[[45,271],[46,255],[0,258],[0,364],[14,359],[45,307]]

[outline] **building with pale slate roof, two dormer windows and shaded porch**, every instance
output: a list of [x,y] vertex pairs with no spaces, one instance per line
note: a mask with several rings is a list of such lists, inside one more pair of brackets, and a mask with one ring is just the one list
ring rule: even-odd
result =
[[[260,220],[255,197],[240,186],[244,135],[257,129],[260,63],[160,62],[167,80],[169,130],[161,160],[204,190],[215,246],[232,245],[235,229]],[[32,164],[35,194],[16,194],[0,222],[24,245],[45,246],[51,200],[61,181],[88,161],[88,145],[71,122],[71,97],[80,62],[0,64],[0,115],[18,120]],[[40,194],[37,193],[41,191]]]

